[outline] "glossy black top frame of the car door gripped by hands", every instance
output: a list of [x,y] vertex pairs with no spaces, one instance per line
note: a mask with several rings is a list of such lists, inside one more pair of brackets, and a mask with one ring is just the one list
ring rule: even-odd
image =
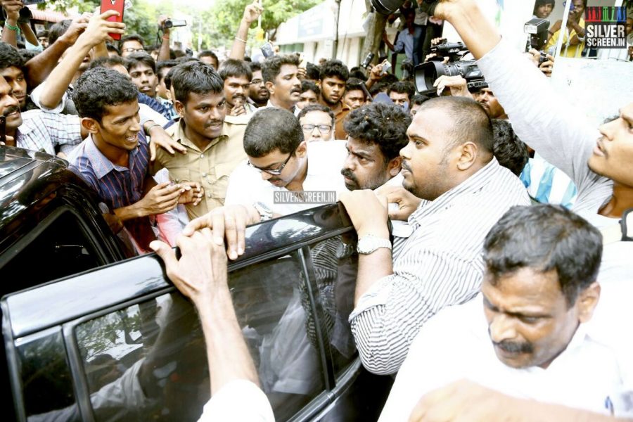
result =
[[[246,229],[244,255],[229,262],[229,271],[347,232],[354,228],[340,203],[255,224]],[[11,293],[1,306],[10,315],[13,337],[19,338],[170,288],[160,258],[148,254]]]

